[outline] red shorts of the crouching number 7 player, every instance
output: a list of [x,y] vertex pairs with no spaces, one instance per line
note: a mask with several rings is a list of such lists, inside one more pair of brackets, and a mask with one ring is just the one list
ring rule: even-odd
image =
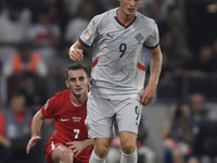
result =
[[[53,159],[52,159],[53,150],[61,145],[63,145],[63,143],[53,141],[50,139],[48,140],[48,142],[44,146],[44,154],[46,154],[46,160],[48,163],[54,163]],[[65,145],[63,145],[63,146],[65,146]],[[92,149],[93,149],[92,147],[86,148],[76,158],[74,158],[73,162],[74,163],[89,163],[89,158],[91,155]]]

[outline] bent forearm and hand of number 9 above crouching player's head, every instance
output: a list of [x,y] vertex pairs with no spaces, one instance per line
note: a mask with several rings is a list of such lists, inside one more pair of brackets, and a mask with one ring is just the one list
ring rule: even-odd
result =
[[68,54],[71,60],[73,61],[80,61],[82,60],[82,49],[86,47],[81,45],[79,41],[76,41],[68,50]]

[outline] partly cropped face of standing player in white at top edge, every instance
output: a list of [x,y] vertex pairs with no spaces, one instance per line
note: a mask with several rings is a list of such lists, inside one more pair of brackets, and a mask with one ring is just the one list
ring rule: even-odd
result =
[[142,0],[119,0],[120,10],[127,15],[135,15]]

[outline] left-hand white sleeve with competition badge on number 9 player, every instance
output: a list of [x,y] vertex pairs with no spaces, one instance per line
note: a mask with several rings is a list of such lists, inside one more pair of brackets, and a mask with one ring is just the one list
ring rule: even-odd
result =
[[99,18],[94,16],[90,23],[88,24],[87,28],[81,33],[79,41],[85,47],[89,48],[92,46],[94,39],[98,37],[98,26],[99,26]]

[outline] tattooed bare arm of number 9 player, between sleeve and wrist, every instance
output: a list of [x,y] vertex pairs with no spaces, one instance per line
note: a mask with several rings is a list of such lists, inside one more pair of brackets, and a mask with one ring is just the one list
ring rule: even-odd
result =
[[152,59],[150,64],[150,84],[157,85],[159,74],[162,71],[162,52],[159,50],[159,47],[156,50],[152,51]]

